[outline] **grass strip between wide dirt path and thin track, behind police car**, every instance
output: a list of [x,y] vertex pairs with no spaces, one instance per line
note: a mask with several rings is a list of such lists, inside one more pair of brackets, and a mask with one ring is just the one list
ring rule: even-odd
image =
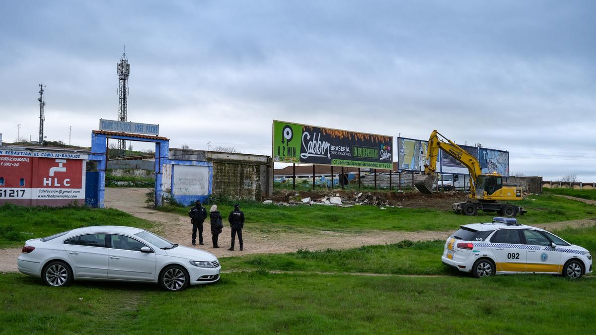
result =
[[[596,255],[596,226],[553,231],[569,243]],[[222,266],[232,270],[361,272],[376,274],[457,274],[443,266],[440,255],[445,240],[401,241],[382,246],[363,246],[345,250],[299,250],[293,253],[248,255],[222,258]]]

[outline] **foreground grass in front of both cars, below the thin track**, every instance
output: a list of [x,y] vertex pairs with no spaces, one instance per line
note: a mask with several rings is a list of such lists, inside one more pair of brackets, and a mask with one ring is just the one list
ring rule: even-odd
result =
[[55,289],[0,275],[2,333],[592,333],[596,280],[551,276],[226,274],[167,293],[150,284]]

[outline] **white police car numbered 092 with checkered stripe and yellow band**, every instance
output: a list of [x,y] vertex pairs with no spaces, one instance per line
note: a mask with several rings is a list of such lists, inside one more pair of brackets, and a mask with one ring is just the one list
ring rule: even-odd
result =
[[515,218],[462,225],[447,239],[441,259],[476,278],[541,273],[576,279],[592,272],[588,250],[544,229],[519,224]]

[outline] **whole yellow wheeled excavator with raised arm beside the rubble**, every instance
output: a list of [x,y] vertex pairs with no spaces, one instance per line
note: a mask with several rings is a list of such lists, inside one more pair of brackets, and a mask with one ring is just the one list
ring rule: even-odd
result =
[[424,175],[426,177],[423,181],[415,183],[418,191],[424,194],[432,194],[439,149],[454,157],[470,171],[470,198],[473,200],[454,203],[455,213],[476,215],[479,210],[483,210],[484,212],[497,212],[499,215],[509,218],[516,216],[518,213],[526,213],[526,210],[521,206],[496,202],[498,200],[522,200],[521,187],[516,184],[504,183],[503,177],[496,172],[488,175],[483,174],[476,157],[436,130],[430,134],[429,150],[426,157],[429,163],[424,165]]

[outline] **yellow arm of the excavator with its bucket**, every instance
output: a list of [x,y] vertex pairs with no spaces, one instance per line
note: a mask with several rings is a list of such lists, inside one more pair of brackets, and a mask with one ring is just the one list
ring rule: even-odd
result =
[[[444,140],[443,140],[444,139]],[[482,169],[480,169],[480,163],[476,159],[476,157],[469,154],[467,151],[462,149],[459,145],[455,144],[450,139],[444,137],[439,132],[434,130],[430,134],[429,138],[429,149],[427,151],[427,160],[428,163],[424,165],[424,174],[427,177],[424,181],[418,182],[415,184],[416,188],[419,191],[426,194],[432,194],[432,185],[434,182],[435,174],[436,174],[436,166],[437,166],[437,156],[439,156],[439,149],[445,151],[445,153],[449,154],[464,165],[470,171],[470,196],[475,196],[476,191],[476,180],[479,175],[482,174]]]

